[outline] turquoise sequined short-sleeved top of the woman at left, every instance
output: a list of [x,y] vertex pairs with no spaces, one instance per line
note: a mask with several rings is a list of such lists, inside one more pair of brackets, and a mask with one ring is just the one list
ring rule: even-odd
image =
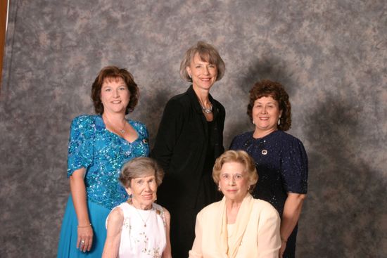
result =
[[81,115],[71,124],[68,176],[77,169],[86,168],[87,198],[108,209],[128,198],[118,181],[122,165],[134,157],[149,155],[145,125],[133,120],[128,122],[139,136],[132,143],[108,131],[100,115]]

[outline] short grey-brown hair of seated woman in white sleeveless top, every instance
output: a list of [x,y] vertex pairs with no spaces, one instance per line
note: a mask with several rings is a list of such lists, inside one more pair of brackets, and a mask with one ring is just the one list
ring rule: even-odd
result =
[[120,182],[125,188],[130,187],[130,181],[154,173],[158,186],[163,182],[164,172],[156,160],[151,157],[135,157],[121,169]]

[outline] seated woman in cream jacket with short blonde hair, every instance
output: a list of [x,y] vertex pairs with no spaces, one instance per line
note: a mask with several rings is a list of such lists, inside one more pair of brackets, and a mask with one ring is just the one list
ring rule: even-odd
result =
[[212,178],[224,198],[198,213],[189,257],[278,258],[279,214],[249,193],[258,181],[251,157],[243,150],[228,150],[217,158]]

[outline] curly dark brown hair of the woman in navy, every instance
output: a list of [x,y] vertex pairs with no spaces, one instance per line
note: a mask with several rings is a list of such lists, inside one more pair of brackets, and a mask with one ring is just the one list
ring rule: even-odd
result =
[[247,105],[247,115],[253,122],[253,106],[258,98],[272,97],[278,101],[279,110],[282,111],[281,123],[277,127],[281,131],[287,131],[291,128],[291,103],[289,101],[288,93],[286,93],[284,86],[279,82],[272,82],[269,79],[263,79],[254,84],[250,89],[250,102]]

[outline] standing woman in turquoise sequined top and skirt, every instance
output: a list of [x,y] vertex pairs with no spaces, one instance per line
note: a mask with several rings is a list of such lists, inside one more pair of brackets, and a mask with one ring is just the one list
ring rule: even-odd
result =
[[137,105],[139,89],[125,69],[104,67],[91,98],[99,115],[81,115],[71,124],[68,177],[71,195],[63,217],[58,258],[101,257],[110,210],[127,200],[120,169],[148,156],[148,131],[125,115]]

